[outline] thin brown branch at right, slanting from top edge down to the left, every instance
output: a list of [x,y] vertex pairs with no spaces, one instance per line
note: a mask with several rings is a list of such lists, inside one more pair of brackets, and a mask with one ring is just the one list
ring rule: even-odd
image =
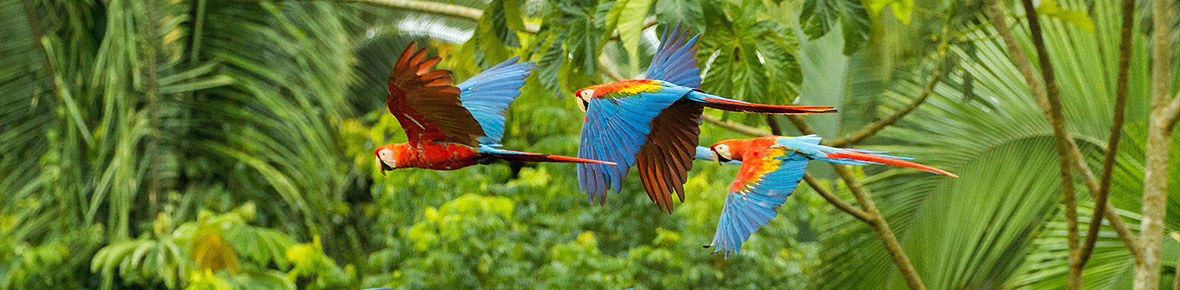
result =
[[[1086,231],[1086,239],[1079,253],[1077,268],[1084,268],[1094,252],[1094,244],[1099,239],[1099,229],[1102,228],[1102,215],[1106,215],[1106,206],[1110,196],[1110,176],[1114,172],[1115,156],[1119,152],[1119,139],[1122,138],[1122,124],[1127,107],[1127,93],[1130,80],[1130,35],[1135,25],[1135,0],[1122,1],[1122,34],[1119,40],[1119,80],[1114,98],[1114,120],[1110,123],[1110,137],[1107,138],[1107,150],[1102,156],[1102,177],[1099,179],[1099,191],[1094,193],[1094,215],[1090,216],[1089,229]],[[1081,271],[1081,269],[1079,269]]]

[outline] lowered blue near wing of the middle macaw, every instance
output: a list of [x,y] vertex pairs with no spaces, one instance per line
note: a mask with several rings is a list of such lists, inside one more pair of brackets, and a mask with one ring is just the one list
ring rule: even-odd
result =
[[689,90],[662,86],[651,92],[618,93],[590,100],[582,124],[578,157],[617,164],[578,164],[578,185],[591,202],[605,204],[611,186],[615,192],[622,191],[623,177],[635,166],[640,149],[653,131],[653,120]]

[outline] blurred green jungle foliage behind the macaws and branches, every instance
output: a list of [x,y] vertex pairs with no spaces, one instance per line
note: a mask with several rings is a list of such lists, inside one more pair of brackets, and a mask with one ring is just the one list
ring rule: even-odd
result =
[[[1007,6],[1031,51],[1023,9]],[[1110,193],[1135,232],[1150,99],[1139,6]],[[1119,4],[1040,7],[1068,128],[1101,167]],[[807,186],[741,255],[702,249],[736,166],[696,164],[674,215],[636,178],[590,205],[568,164],[374,167],[376,146],[405,138],[384,101],[409,41],[460,80],[512,55],[537,61],[505,145],[575,154],[571,93],[640,75],[666,24],[703,33],[704,91],[839,107],[806,117],[825,138],[933,81],[917,111],[854,145],[962,176],[857,171],[917,272],[930,289],[1064,286],[1053,131],[978,4],[0,0],[0,289],[905,288],[872,229]],[[784,119],[707,113],[798,134]],[[707,123],[701,143],[747,137]],[[811,170],[852,199],[831,169]],[[1180,158],[1169,179],[1173,232]],[[1079,197],[1086,226],[1094,203]],[[1127,249],[1109,228],[1099,237],[1086,286],[1129,288]],[[1161,284],[1178,245],[1163,243]]]

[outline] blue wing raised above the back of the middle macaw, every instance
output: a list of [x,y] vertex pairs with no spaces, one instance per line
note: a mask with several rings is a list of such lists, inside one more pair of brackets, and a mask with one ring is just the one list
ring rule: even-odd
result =
[[699,37],[700,34],[689,38],[688,29],[682,29],[680,25],[676,25],[671,33],[664,26],[660,48],[651,57],[651,65],[648,66],[648,72],[644,75],[648,79],[701,88],[701,68],[696,67],[696,39]]

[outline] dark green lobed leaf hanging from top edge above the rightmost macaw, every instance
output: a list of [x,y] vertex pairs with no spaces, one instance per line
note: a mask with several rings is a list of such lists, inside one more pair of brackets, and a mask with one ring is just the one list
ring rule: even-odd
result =
[[811,39],[822,37],[840,25],[846,55],[868,41],[868,14],[859,0],[807,0],[799,14],[799,24]]

